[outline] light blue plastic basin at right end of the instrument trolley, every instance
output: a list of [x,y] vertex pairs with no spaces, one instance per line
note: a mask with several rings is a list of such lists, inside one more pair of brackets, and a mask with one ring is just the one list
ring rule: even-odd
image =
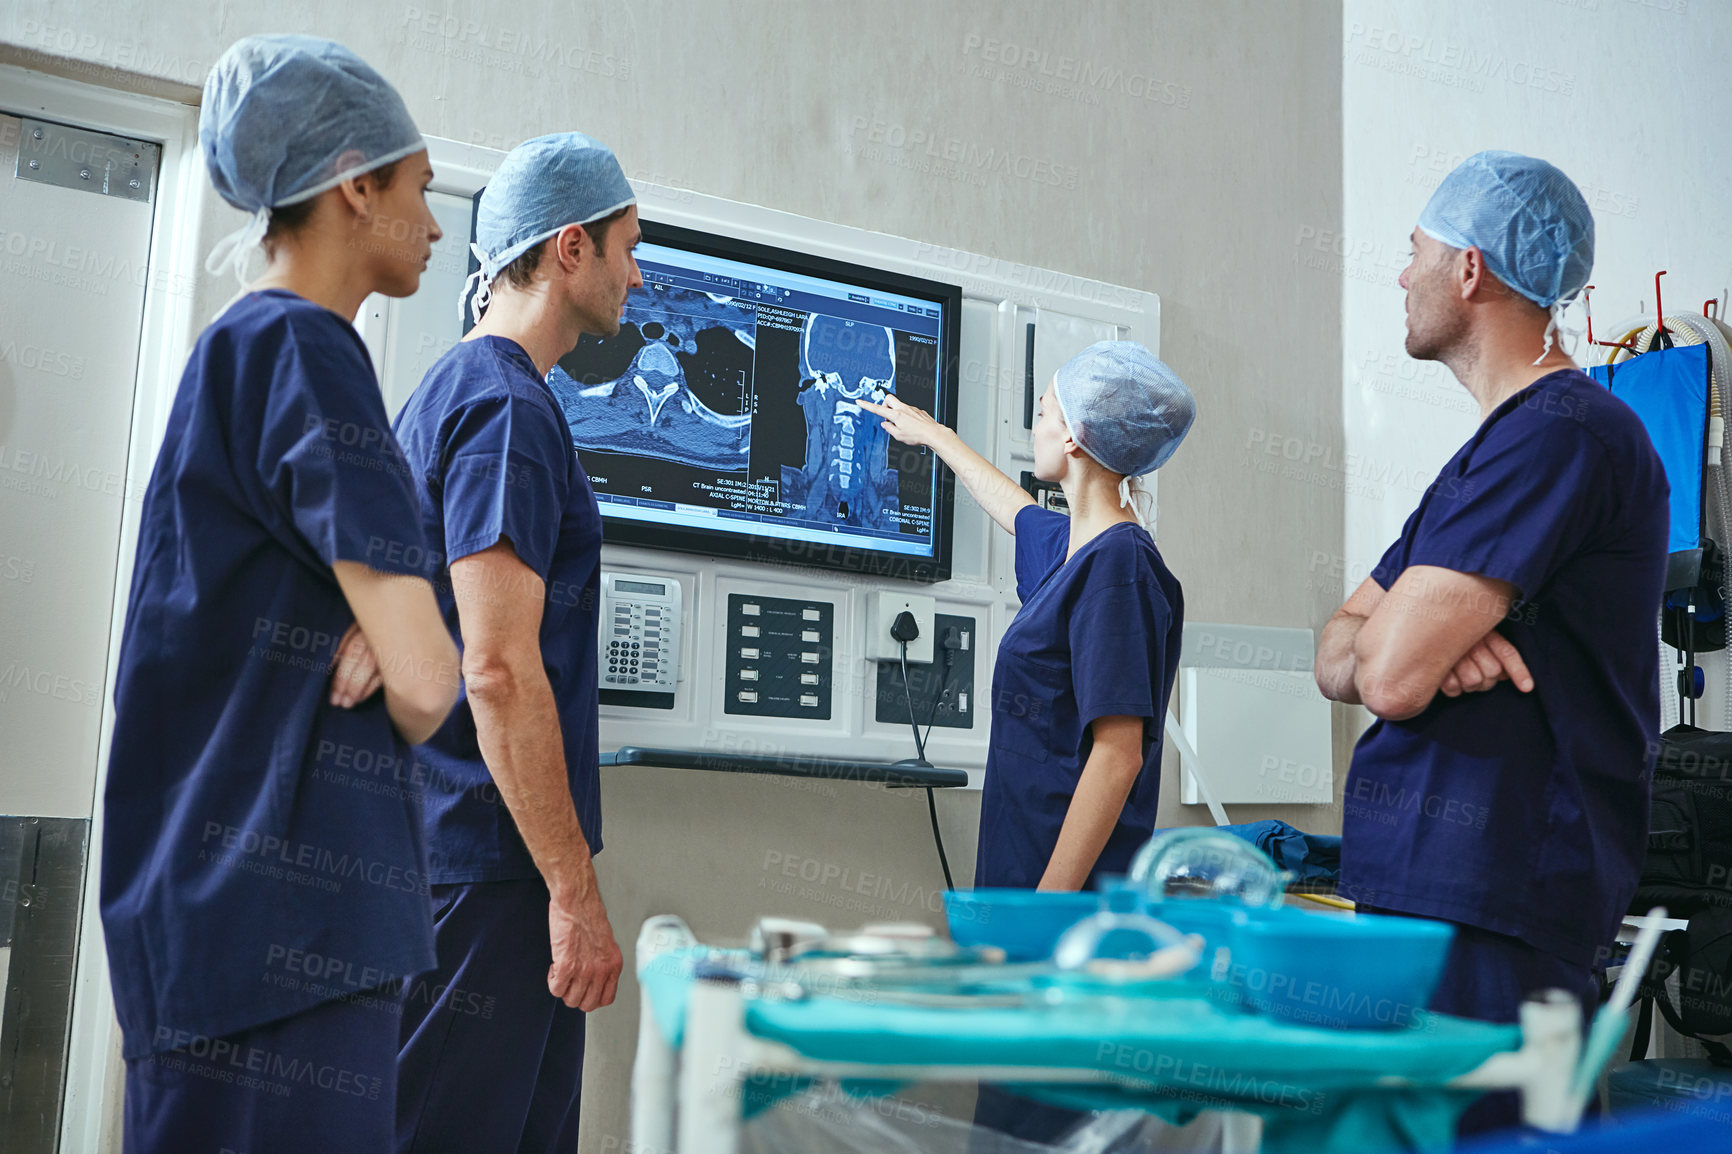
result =
[[1455,927],[1424,918],[1302,910],[1238,913],[1223,984],[1297,1024],[1403,1029],[1438,989]]

